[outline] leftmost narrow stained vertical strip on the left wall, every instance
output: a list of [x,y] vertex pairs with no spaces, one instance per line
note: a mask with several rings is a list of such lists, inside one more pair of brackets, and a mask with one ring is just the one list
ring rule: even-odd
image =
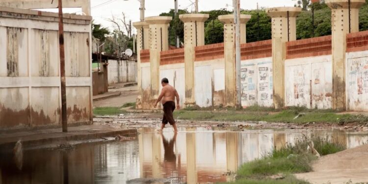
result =
[[6,47],[6,68],[8,71],[8,77],[18,77],[18,31],[22,30],[22,28],[16,27],[7,27],[6,32],[8,36],[7,47]]

